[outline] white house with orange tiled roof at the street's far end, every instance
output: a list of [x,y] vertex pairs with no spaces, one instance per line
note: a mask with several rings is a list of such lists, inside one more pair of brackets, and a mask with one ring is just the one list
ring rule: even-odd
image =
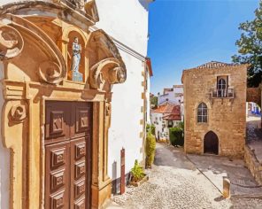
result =
[[169,140],[169,129],[181,122],[181,106],[166,102],[151,112],[151,122],[156,127],[157,140]]

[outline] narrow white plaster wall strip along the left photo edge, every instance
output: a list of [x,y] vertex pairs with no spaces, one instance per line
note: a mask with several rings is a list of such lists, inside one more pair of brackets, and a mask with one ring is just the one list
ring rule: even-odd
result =
[[[4,79],[4,66],[0,62],[0,80]],[[4,105],[3,90],[0,89],[0,110]],[[0,111],[0,120],[2,124],[2,111]],[[9,208],[10,191],[10,151],[5,149],[2,143],[2,133],[0,128],[0,208]]]

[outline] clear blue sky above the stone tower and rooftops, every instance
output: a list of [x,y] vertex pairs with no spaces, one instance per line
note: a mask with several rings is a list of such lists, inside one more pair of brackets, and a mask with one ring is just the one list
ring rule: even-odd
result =
[[181,83],[183,69],[231,62],[239,24],[254,19],[259,0],[156,0],[150,4],[151,92]]

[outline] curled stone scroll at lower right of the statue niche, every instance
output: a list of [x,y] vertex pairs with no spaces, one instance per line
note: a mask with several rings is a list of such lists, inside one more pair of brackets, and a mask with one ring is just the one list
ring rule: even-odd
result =
[[105,58],[90,69],[89,82],[93,89],[103,89],[106,81],[115,84],[122,83],[126,79],[127,71],[120,66],[117,58]]

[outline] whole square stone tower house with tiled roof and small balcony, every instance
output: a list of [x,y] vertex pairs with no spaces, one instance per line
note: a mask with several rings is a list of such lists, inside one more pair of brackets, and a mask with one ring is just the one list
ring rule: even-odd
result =
[[186,152],[243,157],[247,68],[212,61],[183,71]]

